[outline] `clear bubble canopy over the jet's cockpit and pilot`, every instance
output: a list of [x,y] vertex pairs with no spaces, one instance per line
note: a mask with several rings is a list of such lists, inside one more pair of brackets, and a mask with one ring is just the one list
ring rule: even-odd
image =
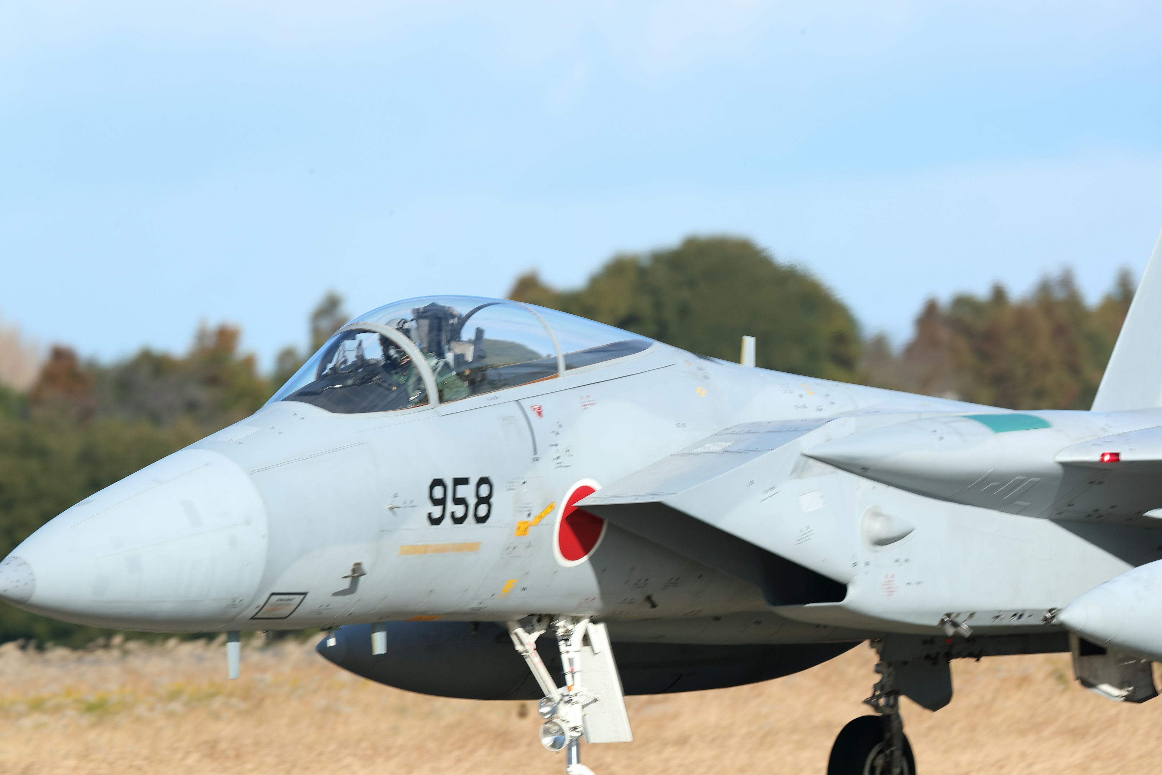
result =
[[474,296],[409,299],[353,318],[274,401],[392,411],[459,401],[643,352],[651,339],[554,309]]

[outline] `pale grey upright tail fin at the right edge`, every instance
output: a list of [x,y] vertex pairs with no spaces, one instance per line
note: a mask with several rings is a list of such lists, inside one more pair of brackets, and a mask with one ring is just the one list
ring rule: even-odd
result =
[[1138,284],[1093,411],[1162,407],[1162,235]]

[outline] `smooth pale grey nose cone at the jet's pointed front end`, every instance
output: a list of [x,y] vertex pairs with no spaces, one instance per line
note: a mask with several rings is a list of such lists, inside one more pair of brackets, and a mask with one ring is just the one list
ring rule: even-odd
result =
[[221,453],[182,450],[29,536],[0,564],[0,597],[95,626],[221,629],[257,591],[266,533],[246,472]]

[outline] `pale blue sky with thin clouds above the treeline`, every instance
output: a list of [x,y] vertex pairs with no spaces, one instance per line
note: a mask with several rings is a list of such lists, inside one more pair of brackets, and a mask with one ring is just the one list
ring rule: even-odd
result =
[[1162,228],[1162,6],[0,0],[0,318],[114,358],[748,236],[866,329]]

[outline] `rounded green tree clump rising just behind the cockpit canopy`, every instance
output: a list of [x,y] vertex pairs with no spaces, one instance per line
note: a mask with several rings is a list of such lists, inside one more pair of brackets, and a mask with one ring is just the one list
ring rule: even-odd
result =
[[615,256],[575,290],[555,290],[532,272],[509,297],[724,360],[738,360],[748,335],[759,366],[856,376],[861,340],[852,314],[816,278],[748,239],[690,237],[669,250]]

